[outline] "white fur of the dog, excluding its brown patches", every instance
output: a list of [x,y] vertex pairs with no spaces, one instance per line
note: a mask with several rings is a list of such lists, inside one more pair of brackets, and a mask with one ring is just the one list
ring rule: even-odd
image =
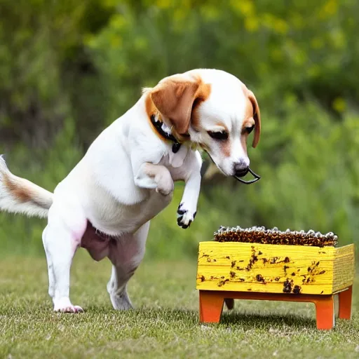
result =
[[[111,303],[115,309],[129,309],[132,304],[126,287],[144,256],[149,221],[170,203],[173,182],[177,180],[185,182],[178,222],[186,227],[194,220],[202,161],[193,145],[207,144],[213,160],[226,175],[233,175],[233,164],[238,161],[249,165],[240,143],[245,107],[241,81],[217,70],[195,73],[211,84],[211,93],[199,108],[201,131],[189,128],[191,142],[182,145],[177,154],[172,153],[172,144],[161,140],[151,128],[145,90],[126,114],[95,139],[54,194],[15,177],[0,158],[0,209],[48,216],[43,246],[48,262],[48,292],[55,311],[82,311],[70,302],[69,273],[88,221],[97,231],[117,238],[108,247],[89,252],[97,260],[109,257],[113,264],[107,285]],[[218,123],[230,130],[229,157],[223,156],[207,134],[208,130],[218,130]],[[4,176],[27,191],[32,200],[18,201],[5,186]]]

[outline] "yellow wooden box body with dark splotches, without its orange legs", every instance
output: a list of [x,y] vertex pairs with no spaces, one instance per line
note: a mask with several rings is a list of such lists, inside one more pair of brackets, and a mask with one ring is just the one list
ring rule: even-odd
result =
[[353,284],[354,245],[199,243],[198,290],[334,294]]

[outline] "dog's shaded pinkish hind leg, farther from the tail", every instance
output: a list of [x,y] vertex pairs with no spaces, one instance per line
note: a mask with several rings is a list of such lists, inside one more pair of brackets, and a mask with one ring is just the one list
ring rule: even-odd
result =
[[148,232],[149,222],[135,233],[118,238],[110,247],[109,259],[112,262],[112,272],[107,284],[107,292],[114,309],[133,308],[127,293],[127,283],[142,262]]

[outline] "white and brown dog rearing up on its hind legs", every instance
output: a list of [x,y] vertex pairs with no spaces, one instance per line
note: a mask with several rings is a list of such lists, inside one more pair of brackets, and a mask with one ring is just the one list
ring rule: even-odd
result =
[[[194,221],[206,151],[226,176],[248,172],[261,132],[255,95],[217,69],[195,69],[144,88],[140,100],[90,144],[53,193],[8,170],[0,157],[0,210],[47,217],[43,248],[53,310],[77,313],[69,299],[72,259],[79,247],[96,261],[108,257],[107,291],[114,309],[132,309],[128,280],[144,257],[150,220],[185,182],[177,223]],[[226,302],[233,306],[233,301]]]

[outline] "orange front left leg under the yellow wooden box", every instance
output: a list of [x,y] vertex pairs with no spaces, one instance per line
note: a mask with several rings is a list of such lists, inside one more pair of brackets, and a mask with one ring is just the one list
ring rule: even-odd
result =
[[219,323],[222,315],[224,297],[222,292],[199,291],[199,321],[201,323]]

